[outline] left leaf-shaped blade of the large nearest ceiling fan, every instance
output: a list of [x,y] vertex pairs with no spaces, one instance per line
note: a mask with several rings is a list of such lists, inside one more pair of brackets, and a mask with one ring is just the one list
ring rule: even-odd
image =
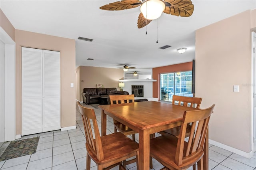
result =
[[136,8],[140,6],[141,3],[142,2],[139,0],[122,0],[101,6],[100,9],[108,11],[127,10],[131,8]]

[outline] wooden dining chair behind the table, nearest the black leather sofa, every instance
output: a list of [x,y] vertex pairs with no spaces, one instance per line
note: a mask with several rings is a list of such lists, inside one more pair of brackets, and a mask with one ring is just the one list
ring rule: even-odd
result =
[[[134,95],[110,95],[110,105],[120,104],[120,103],[134,103]],[[135,131],[131,128],[127,127],[126,125],[116,121],[114,121],[114,132],[116,133],[117,130],[124,134],[125,136],[132,134],[132,140],[135,141]]]

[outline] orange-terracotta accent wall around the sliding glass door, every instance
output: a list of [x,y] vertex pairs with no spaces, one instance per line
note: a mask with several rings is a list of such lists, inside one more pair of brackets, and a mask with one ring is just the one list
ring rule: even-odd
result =
[[174,65],[168,65],[164,67],[156,67],[152,69],[152,78],[157,81],[153,82],[153,97],[158,98],[160,93],[160,73],[172,73],[177,71],[191,71],[193,66],[193,62],[188,63],[180,63]]

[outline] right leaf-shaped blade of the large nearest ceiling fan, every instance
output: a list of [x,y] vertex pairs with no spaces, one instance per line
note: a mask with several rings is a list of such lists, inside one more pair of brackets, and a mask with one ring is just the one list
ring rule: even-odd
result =
[[163,12],[166,14],[189,17],[194,11],[191,0],[164,0],[164,4],[166,4],[166,8]]

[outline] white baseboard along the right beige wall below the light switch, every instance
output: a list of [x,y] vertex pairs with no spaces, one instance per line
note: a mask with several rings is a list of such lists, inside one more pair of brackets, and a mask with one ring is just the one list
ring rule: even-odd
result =
[[231,146],[228,146],[226,144],[222,144],[220,142],[216,142],[216,141],[211,140],[211,139],[209,139],[209,143],[213,144],[215,146],[218,146],[219,148],[222,148],[222,149],[228,150],[230,152],[233,152],[235,154],[238,154],[240,156],[244,156],[244,157],[246,157],[248,159],[252,158],[252,155],[253,155],[252,151],[250,153],[247,153],[247,152],[244,152],[242,150],[239,150],[239,149],[236,149],[236,148],[232,148]]

